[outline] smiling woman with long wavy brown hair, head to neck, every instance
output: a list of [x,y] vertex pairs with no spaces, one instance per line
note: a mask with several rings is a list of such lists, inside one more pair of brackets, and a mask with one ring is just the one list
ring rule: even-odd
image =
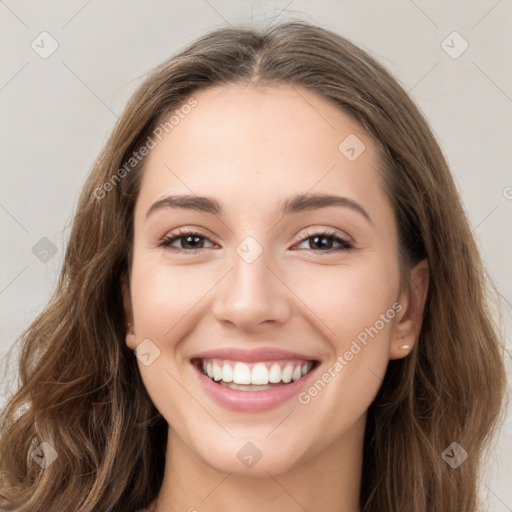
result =
[[477,510],[475,242],[417,107],[330,31],[217,30],[146,79],[22,342],[2,510]]

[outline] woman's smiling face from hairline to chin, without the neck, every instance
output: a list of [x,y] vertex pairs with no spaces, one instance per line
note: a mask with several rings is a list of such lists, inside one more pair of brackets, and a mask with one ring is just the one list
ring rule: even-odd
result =
[[397,226],[374,142],[328,100],[287,85],[194,98],[146,160],[126,342],[170,443],[277,474],[360,435],[413,344]]

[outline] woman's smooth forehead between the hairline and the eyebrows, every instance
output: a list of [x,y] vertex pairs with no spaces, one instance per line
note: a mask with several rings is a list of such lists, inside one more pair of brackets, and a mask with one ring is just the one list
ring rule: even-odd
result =
[[330,100],[284,84],[228,84],[192,96],[197,105],[146,160],[141,207],[174,193],[259,210],[306,192],[383,200],[375,143]]

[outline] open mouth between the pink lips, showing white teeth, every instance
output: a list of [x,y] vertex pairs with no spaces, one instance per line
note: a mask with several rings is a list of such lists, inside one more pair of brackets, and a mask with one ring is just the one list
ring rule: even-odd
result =
[[226,359],[194,359],[192,363],[212,381],[238,391],[265,391],[306,376],[318,361],[284,360],[246,363]]

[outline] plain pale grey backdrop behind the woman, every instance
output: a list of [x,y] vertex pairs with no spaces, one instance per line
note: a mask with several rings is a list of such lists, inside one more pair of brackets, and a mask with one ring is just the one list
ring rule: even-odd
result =
[[[148,71],[209,29],[290,17],[353,40],[419,104],[499,292],[495,309],[511,348],[512,0],[0,0],[1,360],[48,300],[83,181]],[[448,37],[454,31],[463,39]],[[43,237],[55,244],[53,257]],[[0,405],[14,389],[14,362]],[[507,356],[509,375],[511,366]],[[510,474],[508,414],[482,480],[489,510],[512,511]]]

